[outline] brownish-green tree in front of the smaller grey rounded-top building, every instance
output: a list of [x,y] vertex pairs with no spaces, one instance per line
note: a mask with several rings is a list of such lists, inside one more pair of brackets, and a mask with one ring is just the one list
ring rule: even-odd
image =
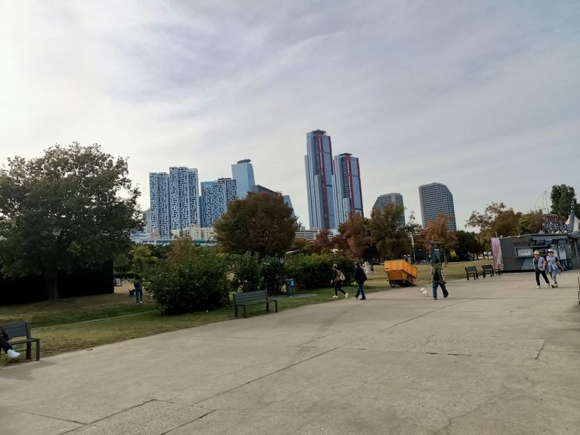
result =
[[401,226],[399,218],[404,208],[399,204],[386,204],[382,210],[371,213],[370,230],[373,242],[381,257],[399,258],[411,252],[410,234],[416,229],[413,219]]

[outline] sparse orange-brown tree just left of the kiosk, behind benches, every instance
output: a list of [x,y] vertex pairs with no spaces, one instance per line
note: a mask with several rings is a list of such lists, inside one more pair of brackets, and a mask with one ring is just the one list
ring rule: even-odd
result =
[[477,239],[484,248],[491,248],[491,238],[498,236],[516,236],[521,213],[508,208],[504,203],[493,202],[486,206],[483,213],[472,211],[467,220],[467,227],[479,228]]

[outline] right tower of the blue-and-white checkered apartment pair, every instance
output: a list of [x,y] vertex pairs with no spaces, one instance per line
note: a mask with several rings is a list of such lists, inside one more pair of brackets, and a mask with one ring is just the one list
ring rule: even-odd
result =
[[199,225],[197,169],[185,166],[169,168],[169,208],[171,229]]

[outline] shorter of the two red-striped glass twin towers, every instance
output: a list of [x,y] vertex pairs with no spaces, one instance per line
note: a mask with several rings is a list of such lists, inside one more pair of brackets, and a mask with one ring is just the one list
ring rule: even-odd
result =
[[351,213],[362,216],[362,189],[357,157],[348,152],[334,156],[332,185],[336,226],[346,222]]

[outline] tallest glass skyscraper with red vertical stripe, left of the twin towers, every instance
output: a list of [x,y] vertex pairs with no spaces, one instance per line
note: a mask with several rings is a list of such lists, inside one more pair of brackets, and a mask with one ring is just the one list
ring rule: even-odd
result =
[[332,190],[332,144],[323,130],[306,134],[306,190],[311,229],[336,228]]

